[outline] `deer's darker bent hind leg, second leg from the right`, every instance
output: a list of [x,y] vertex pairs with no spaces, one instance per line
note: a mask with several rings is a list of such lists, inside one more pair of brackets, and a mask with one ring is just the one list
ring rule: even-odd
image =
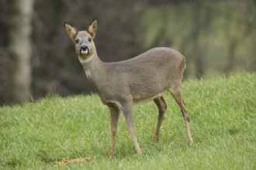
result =
[[164,97],[157,97],[154,98],[154,103],[157,105],[158,108],[158,119],[157,119],[157,127],[154,131],[153,140],[157,141],[159,137],[159,131],[161,128],[161,124],[164,121],[164,113],[167,109],[167,104],[164,101]]

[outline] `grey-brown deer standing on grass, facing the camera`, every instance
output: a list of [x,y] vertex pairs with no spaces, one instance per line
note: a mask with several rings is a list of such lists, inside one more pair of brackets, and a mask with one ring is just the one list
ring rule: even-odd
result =
[[164,91],[171,93],[180,107],[189,143],[193,143],[189,113],[182,100],[185,57],[181,53],[168,47],[156,47],[131,59],[106,63],[99,59],[93,42],[98,30],[98,19],[93,19],[85,30],[78,31],[68,22],[64,22],[64,28],[74,41],[75,51],[89,82],[95,87],[102,104],[109,107],[112,134],[110,158],[116,155],[116,133],[121,111],[137,154],[142,153],[133,124],[133,106],[137,104],[153,100],[157,105],[158,118],[153,140],[158,140],[167,110]]

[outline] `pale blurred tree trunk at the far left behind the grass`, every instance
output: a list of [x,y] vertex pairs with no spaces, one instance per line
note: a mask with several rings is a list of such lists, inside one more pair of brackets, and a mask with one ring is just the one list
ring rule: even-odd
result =
[[31,20],[33,0],[12,1],[9,26],[8,102],[21,104],[31,99]]

